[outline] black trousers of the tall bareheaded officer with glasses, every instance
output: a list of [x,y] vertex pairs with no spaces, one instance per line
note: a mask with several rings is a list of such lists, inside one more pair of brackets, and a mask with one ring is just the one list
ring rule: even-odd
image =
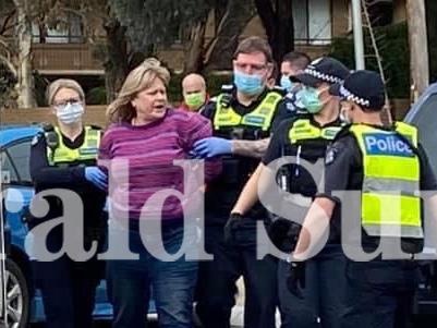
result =
[[257,260],[255,245],[226,245],[220,224],[206,227],[205,250],[215,258],[199,265],[196,312],[204,327],[230,327],[235,282],[243,276],[246,293],[244,327],[275,328],[277,259],[266,256]]

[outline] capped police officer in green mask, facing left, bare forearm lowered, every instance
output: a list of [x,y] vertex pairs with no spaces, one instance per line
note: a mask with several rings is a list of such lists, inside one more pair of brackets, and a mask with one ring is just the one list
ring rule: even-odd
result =
[[[338,60],[325,57],[314,60],[301,74],[296,75],[302,84],[298,97],[306,108],[306,113],[283,121],[275,131],[266,155],[256,172],[251,177],[234,208],[232,217],[243,216],[258,198],[257,189],[260,174],[272,173],[269,165],[284,156],[294,157],[293,163],[282,166],[276,178],[281,190],[290,193],[299,204],[311,204],[317,193],[317,178],[301,165],[302,160],[312,165],[325,157],[327,146],[341,130],[339,119],[340,101],[329,94],[329,88],[342,82],[349,75],[349,70]],[[271,171],[271,172],[270,172]],[[274,180],[275,181],[275,180]],[[266,191],[267,187],[262,187]],[[274,209],[275,210],[275,209]],[[296,216],[298,214],[294,214]],[[298,218],[293,217],[293,220]],[[274,217],[270,227],[270,238],[282,252],[291,253],[299,236],[300,226],[284,218]],[[329,262],[328,262],[329,259]],[[332,235],[329,244],[315,258],[308,260],[305,267],[300,267],[300,278],[305,279],[303,290],[290,277],[290,264],[282,259],[278,266],[278,292],[281,324],[286,327],[338,327],[341,308],[339,299],[340,286],[331,282],[342,275],[344,258],[341,253],[340,240]],[[294,279],[294,280],[293,280]]]

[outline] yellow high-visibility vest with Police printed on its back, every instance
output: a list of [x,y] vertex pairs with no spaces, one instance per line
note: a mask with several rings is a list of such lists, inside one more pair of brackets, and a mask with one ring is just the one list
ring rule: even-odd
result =
[[[423,238],[417,130],[397,122],[396,131],[353,124],[363,155],[361,217],[368,235]],[[406,143],[399,134],[410,142]]]

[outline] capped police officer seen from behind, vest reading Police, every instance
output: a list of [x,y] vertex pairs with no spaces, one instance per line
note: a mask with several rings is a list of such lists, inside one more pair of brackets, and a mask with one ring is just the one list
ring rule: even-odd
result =
[[[410,313],[416,283],[411,258],[423,247],[416,191],[435,191],[436,179],[416,127],[381,122],[384,83],[377,73],[356,71],[330,92],[343,99],[342,117],[351,124],[327,151],[325,193],[317,195],[305,217],[306,230],[300,234],[294,259],[304,259],[321,240],[324,228],[338,226],[341,218],[342,246],[349,257],[338,277],[347,282],[341,327],[401,327],[405,319],[394,323],[396,313]],[[359,195],[340,199],[336,191]],[[378,245],[381,255],[375,252]]]

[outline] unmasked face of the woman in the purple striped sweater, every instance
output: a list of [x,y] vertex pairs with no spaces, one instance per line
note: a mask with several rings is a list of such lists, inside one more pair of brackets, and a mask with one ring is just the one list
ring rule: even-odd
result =
[[132,100],[136,117],[143,122],[153,122],[163,118],[167,108],[167,90],[163,82],[155,77],[150,86],[139,92]]

